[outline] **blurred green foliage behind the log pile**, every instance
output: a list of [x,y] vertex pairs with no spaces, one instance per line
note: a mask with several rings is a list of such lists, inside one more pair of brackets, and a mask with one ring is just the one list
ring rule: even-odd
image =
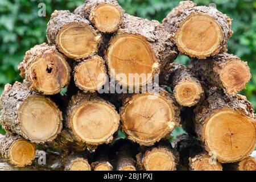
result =
[[[73,11],[84,0],[0,0],[0,93],[7,83],[20,81],[18,64],[25,52],[46,42],[46,26],[53,10]],[[119,0],[127,13],[161,21],[178,0]],[[256,106],[256,1],[254,0],[195,0],[198,5],[216,3],[217,9],[233,19],[234,35],[229,40],[229,53],[248,61],[252,79],[242,91]],[[39,3],[46,4],[46,17],[39,17]],[[187,56],[179,56],[187,63]],[[179,131],[180,132],[180,131]],[[174,134],[176,135],[176,134]]]

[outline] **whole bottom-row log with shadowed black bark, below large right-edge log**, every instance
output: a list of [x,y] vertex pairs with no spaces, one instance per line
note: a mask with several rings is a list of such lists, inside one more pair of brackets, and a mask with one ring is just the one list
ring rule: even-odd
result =
[[191,171],[221,171],[222,165],[204,151],[199,140],[183,134],[173,142],[180,155],[180,169]]

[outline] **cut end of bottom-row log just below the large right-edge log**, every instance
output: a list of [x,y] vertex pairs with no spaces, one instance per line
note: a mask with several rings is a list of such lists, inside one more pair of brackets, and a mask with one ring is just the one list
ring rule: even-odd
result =
[[189,158],[189,168],[191,171],[222,171],[222,164],[205,152]]

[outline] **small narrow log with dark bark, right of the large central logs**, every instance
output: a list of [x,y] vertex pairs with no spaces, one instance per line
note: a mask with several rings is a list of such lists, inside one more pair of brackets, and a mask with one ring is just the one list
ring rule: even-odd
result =
[[204,98],[204,90],[192,71],[181,64],[171,63],[161,76],[174,90],[174,97],[181,106],[191,107]]

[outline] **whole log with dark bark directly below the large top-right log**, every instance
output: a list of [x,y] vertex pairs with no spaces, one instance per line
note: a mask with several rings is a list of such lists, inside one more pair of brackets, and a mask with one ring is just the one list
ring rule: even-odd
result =
[[236,94],[245,89],[251,78],[247,62],[228,53],[221,53],[207,60],[194,59],[191,67],[201,79],[224,89],[228,94]]

